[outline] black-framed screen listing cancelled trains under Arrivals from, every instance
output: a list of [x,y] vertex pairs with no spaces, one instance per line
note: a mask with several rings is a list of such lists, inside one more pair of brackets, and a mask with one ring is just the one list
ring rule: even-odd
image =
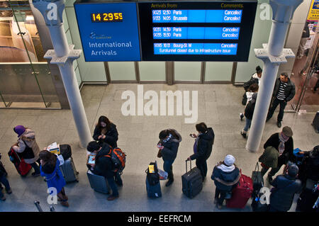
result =
[[257,1],[139,1],[142,60],[247,62]]

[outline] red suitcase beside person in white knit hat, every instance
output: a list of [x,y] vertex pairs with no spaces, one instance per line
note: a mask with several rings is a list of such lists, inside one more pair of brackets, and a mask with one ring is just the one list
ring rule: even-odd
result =
[[[241,174],[241,171],[240,171]],[[228,208],[245,208],[250,196],[252,196],[253,183],[249,176],[240,175],[240,181],[237,187],[233,189],[232,198],[226,200]]]

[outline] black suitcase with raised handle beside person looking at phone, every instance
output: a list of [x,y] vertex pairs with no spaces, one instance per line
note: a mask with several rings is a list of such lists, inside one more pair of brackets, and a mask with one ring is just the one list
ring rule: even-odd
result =
[[[191,161],[189,161],[191,163]],[[186,174],[181,176],[182,190],[184,195],[189,198],[194,198],[203,189],[203,179],[201,177],[201,171],[194,167],[190,171],[187,171],[186,160]]]

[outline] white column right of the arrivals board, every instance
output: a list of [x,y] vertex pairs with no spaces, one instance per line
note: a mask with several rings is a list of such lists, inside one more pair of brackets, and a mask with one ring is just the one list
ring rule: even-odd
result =
[[264,69],[246,144],[246,149],[250,152],[257,152],[259,149],[279,65],[287,62],[287,57],[294,57],[290,49],[284,49],[284,43],[293,12],[302,2],[303,0],[269,0],[273,12],[269,44],[264,44],[264,49],[254,50],[256,56],[264,61]]

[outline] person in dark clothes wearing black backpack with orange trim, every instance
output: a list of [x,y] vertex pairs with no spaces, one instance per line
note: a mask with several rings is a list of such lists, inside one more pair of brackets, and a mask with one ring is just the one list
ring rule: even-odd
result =
[[118,198],[118,187],[116,185],[123,186],[123,181],[111,159],[112,147],[108,144],[101,147],[97,142],[91,141],[87,145],[87,150],[93,152],[96,156],[95,163],[86,164],[86,166],[93,174],[104,176],[112,189],[112,194],[108,196],[107,200],[111,201]]

